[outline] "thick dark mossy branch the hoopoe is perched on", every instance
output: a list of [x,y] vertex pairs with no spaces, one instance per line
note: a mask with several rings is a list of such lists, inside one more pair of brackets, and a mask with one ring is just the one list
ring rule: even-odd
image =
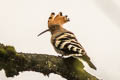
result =
[[67,80],[98,80],[83,68],[83,64],[72,57],[17,53],[13,46],[0,44],[0,70],[4,69],[7,77],[23,71],[35,71],[44,75],[55,73]]

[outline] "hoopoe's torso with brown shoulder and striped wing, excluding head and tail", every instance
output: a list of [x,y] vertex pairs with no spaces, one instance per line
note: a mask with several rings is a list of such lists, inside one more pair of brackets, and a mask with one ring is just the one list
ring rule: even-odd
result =
[[51,43],[55,49],[62,50],[64,55],[77,54],[78,52],[86,54],[75,35],[64,28],[52,35]]

